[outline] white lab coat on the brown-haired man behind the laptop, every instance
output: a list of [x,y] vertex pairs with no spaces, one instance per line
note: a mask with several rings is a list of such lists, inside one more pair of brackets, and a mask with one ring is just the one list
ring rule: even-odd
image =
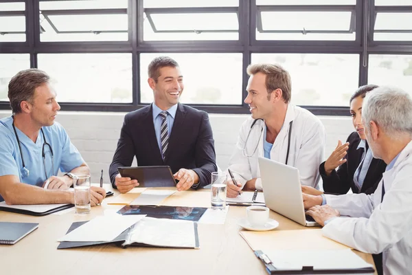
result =
[[[290,151],[288,165],[299,169],[301,184],[317,187],[319,181],[319,164],[325,153],[325,129],[322,122],[306,109],[293,104],[288,105],[282,129],[276,137],[271,149],[271,159],[285,163],[288,150],[289,123],[293,120],[292,135],[290,137]],[[261,126],[253,126],[247,140],[253,118],[248,118],[240,129],[235,151],[229,161],[229,169],[242,186],[246,181],[257,177],[256,188],[262,190],[258,157],[264,157],[264,131],[260,135]],[[258,120],[256,124],[264,127],[264,122]],[[260,138],[259,138],[260,137]],[[244,144],[250,148],[247,155],[252,155],[256,144],[258,148],[251,157],[243,153]]]

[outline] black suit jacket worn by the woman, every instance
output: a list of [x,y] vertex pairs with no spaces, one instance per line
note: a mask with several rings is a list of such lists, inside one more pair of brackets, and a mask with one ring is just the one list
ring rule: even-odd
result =
[[371,194],[375,192],[380,179],[382,179],[382,173],[385,172],[385,162],[382,159],[372,159],[362,189],[359,190],[354,183],[354,174],[362,160],[361,149],[356,150],[361,138],[358,133],[353,132],[347,137],[346,142],[349,142],[349,148],[345,155],[346,162],[339,166],[337,171],[333,170],[328,177],[325,173],[325,162],[319,166],[319,173],[323,180],[323,190],[336,194],[346,194],[350,188],[354,193]]

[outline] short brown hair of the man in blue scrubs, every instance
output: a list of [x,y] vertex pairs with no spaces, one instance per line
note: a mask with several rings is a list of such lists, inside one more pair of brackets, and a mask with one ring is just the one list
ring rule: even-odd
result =
[[13,113],[21,113],[20,103],[32,102],[37,87],[49,80],[50,77],[40,69],[25,69],[13,76],[8,85],[8,98]]

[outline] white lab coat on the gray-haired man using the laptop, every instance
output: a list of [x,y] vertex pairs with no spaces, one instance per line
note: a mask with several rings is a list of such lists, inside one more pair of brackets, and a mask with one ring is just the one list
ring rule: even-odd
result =
[[352,218],[333,219],[323,228],[324,236],[365,253],[383,252],[386,275],[412,274],[412,142],[383,173],[374,194],[325,197],[332,208]]

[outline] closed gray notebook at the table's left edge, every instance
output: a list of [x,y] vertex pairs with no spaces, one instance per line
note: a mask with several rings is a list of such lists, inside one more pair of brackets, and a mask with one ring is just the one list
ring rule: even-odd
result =
[[0,244],[14,245],[38,228],[38,223],[12,223],[0,221]]

